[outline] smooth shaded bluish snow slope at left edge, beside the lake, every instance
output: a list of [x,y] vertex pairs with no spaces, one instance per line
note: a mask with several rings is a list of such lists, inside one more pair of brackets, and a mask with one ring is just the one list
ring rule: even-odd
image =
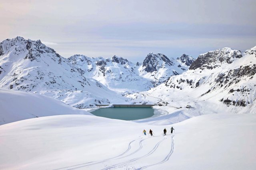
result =
[[51,115],[91,115],[87,111],[40,94],[4,89],[0,89],[0,108],[0,125]]

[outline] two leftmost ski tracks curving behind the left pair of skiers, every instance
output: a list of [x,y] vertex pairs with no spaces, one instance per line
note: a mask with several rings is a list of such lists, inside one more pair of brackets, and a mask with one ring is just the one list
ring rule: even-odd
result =
[[[112,157],[112,158],[108,158],[108,159],[104,159],[104,160],[98,160],[98,161],[92,161],[92,162],[86,162],[86,163],[83,163],[83,164],[77,164],[77,165],[72,165],[72,166],[66,166],[66,167],[58,168],[58,169],[54,169],[54,170],[61,170],[61,169],[72,170],[72,169],[76,169],[76,168],[80,168],[80,167],[85,167],[85,166],[91,166],[91,165],[99,164],[99,163],[106,162],[106,161],[111,160],[111,159],[114,159],[114,158],[118,158],[119,156],[122,156],[122,155],[126,154],[126,153],[132,148],[132,146],[131,146],[132,143],[133,143],[134,141],[139,140],[139,139],[142,139],[142,137],[131,141],[131,142],[129,143],[128,149],[127,149],[126,151],[124,151],[122,154],[117,155],[117,156],[114,156],[114,157]],[[148,138],[147,138],[147,139],[148,139]],[[138,152],[138,150],[142,149],[142,144],[141,144],[141,143],[142,143],[142,141],[144,141],[144,140],[145,140],[145,139],[142,139],[142,140],[140,141],[140,148],[137,149],[137,150],[135,150],[134,152],[132,152],[132,153],[129,154],[128,156],[130,156],[130,155],[134,154],[135,152]],[[124,157],[125,157],[125,156],[124,156]],[[121,157],[121,158],[124,158],[124,157]],[[118,158],[118,159],[120,159],[120,158]],[[81,166],[81,165],[84,165],[84,166]],[[79,167],[75,167],[75,166],[79,166]],[[74,167],[74,168],[73,168],[73,167]],[[71,168],[71,169],[68,169],[68,168]]]

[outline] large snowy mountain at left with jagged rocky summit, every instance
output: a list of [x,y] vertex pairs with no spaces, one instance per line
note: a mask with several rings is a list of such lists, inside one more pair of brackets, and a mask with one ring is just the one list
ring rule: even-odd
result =
[[16,37],[0,43],[0,88],[45,94],[78,108],[125,101],[84,74],[40,40]]

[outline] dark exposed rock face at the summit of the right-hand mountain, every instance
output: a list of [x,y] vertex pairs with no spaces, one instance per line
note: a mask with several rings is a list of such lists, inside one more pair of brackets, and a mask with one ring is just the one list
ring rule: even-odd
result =
[[196,61],[194,61],[194,63],[191,64],[189,69],[213,69],[221,66],[223,63],[231,64],[234,60],[236,60],[237,58],[239,59],[241,57],[241,51],[232,50],[230,48],[209,51],[208,53],[199,55]]

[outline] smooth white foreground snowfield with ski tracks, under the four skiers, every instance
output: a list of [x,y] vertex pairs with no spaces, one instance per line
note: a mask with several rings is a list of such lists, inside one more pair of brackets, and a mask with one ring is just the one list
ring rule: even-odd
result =
[[[256,115],[211,114],[154,126],[58,115],[0,126],[0,169],[256,168]],[[152,129],[154,137],[142,135]]]

